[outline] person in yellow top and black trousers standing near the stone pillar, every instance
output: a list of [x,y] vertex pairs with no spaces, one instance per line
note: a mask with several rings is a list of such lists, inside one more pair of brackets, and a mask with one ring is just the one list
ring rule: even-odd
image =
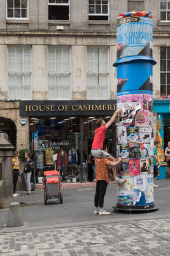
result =
[[17,194],[15,192],[18,176],[20,175],[20,166],[19,166],[19,160],[18,160],[19,154],[18,151],[13,152],[13,159],[12,159],[12,173],[13,173],[13,196],[19,196],[20,194]]

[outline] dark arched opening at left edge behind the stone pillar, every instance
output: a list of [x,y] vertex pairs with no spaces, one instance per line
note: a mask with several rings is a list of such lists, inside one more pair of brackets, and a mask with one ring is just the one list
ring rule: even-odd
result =
[[16,148],[17,128],[11,119],[0,117],[0,134]]

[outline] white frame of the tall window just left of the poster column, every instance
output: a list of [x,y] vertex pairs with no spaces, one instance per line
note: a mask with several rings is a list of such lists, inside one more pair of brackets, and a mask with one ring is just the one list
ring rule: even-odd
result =
[[[100,51],[100,56],[101,56],[101,49],[108,49],[108,61],[107,61],[107,63],[108,63],[108,71],[107,72],[101,72],[101,71],[99,71],[99,72],[96,72],[96,71],[93,71],[93,72],[88,72],[87,71],[87,75],[88,74],[99,74],[99,79],[100,79],[100,82],[101,82],[101,74],[107,74],[107,77],[108,77],[108,88],[107,88],[107,97],[105,98],[103,98],[103,97],[101,97],[101,95],[102,95],[102,93],[101,93],[101,85],[100,84],[98,84],[98,86],[100,86],[100,95],[99,95],[99,97],[87,97],[87,100],[99,100],[99,99],[109,99],[109,92],[110,92],[110,47],[108,47],[108,46],[88,46],[87,47],[87,68],[88,68],[88,49],[90,49],[90,48],[92,48],[93,49],[93,52],[95,51],[95,49],[96,48],[99,48],[99,51]],[[101,61],[101,58],[99,59],[99,61],[98,61],[98,63]],[[100,65],[100,63],[99,63],[99,67],[101,67],[101,65]],[[94,58],[93,58],[93,68],[94,68]],[[93,78],[94,79],[94,78]],[[88,84],[87,84],[87,90],[88,90]],[[93,90],[93,95],[95,95],[95,93],[94,93],[94,88],[95,88],[95,86],[94,86],[94,84],[92,84],[92,90]],[[87,93],[88,94],[88,93]]]

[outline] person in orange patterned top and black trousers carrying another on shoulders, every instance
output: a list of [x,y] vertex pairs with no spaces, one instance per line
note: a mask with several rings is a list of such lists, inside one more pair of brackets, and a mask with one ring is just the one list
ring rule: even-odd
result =
[[117,166],[122,161],[119,157],[117,161],[110,161],[108,158],[96,158],[96,193],[94,196],[94,214],[110,215],[111,212],[106,212],[103,208],[104,196],[109,183],[109,166]]

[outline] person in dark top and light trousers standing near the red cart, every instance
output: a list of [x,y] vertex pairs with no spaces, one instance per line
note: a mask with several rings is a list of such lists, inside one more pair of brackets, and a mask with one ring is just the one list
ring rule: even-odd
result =
[[31,153],[25,152],[25,166],[24,166],[24,179],[26,184],[27,193],[25,195],[32,195],[31,193],[31,173],[34,169],[34,162],[30,159]]

